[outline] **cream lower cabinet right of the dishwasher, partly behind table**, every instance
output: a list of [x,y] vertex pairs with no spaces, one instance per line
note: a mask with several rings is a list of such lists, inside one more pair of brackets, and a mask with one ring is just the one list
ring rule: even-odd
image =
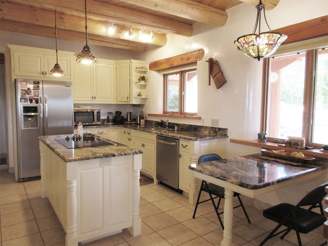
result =
[[222,153],[224,153],[225,145],[225,138],[199,141],[180,139],[179,189],[184,193],[188,193],[191,204],[196,203],[200,182],[194,177],[189,166],[196,163],[199,156],[203,154],[216,153],[223,158]]

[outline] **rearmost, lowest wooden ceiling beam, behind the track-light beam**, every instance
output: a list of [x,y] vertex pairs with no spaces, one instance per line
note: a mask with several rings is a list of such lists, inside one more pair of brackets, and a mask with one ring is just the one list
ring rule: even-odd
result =
[[[23,22],[15,22],[13,20],[1,19],[0,20],[0,30],[9,31],[9,32],[18,32],[25,33],[30,35],[37,35],[43,37],[55,38],[55,29],[54,27],[45,27],[34,24],[28,24]],[[57,37],[58,39],[78,42],[78,43],[86,43],[86,33],[71,31],[71,30],[63,30],[57,28]],[[146,51],[147,45],[133,42],[129,40],[121,40],[112,37],[105,37],[100,35],[88,34],[88,45],[98,45],[105,46],[110,48],[117,49],[125,49],[132,51]],[[82,46],[80,47],[82,49]],[[76,50],[77,53],[80,50]]]

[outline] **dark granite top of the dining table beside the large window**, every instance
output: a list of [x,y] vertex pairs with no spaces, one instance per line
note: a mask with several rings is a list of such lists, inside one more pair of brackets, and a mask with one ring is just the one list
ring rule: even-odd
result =
[[294,166],[261,159],[260,156],[261,154],[254,154],[195,163],[190,165],[189,169],[246,189],[256,190],[328,167],[328,160],[323,158]]

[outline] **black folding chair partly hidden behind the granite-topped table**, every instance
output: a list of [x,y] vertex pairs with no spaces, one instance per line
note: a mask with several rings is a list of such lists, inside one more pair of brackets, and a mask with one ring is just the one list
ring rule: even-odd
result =
[[[202,155],[202,156],[199,157],[198,163],[199,162],[211,161],[211,160],[221,160],[221,159],[222,158],[219,155],[217,155],[217,154],[206,154],[206,155]],[[204,201],[199,201],[200,194],[201,194],[202,191],[209,193],[210,199],[207,199],[207,200],[204,200]],[[213,195],[215,197],[213,197]],[[247,218],[248,222],[251,223],[251,220],[248,217],[248,214],[247,214],[247,212],[246,212],[246,210],[245,210],[245,208],[244,208],[244,206],[242,204],[242,201],[241,201],[239,195],[240,195],[239,193],[234,192],[234,197],[237,196],[238,197],[238,200],[239,200],[239,205],[236,206],[236,207],[234,207],[234,209],[235,208],[238,208],[238,207],[241,207],[242,210],[244,211],[245,215],[246,215],[246,218]],[[218,201],[217,205],[215,205],[215,202],[214,202],[214,199],[215,198],[219,198],[219,201]],[[217,217],[218,217],[218,219],[220,221],[220,224],[221,224],[222,229],[224,230],[224,226],[223,226],[222,220],[220,218],[220,214],[223,214],[223,212],[221,212],[221,213],[218,212],[219,205],[220,205],[220,202],[221,202],[221,199],[222,198],[224,199],[224,188],[223,187],[214,185],[213,183],[207,183],[205,180],[202,180],[201,181],[201,186],[200,186],[200,189],[199,189],[199,193],[198,193],[198,198],[197,198],[197,202],[196,202],[196,207],[195,207],[193,218],[195,218],[198,204],[203,203],[203,202],[206,202],[206,201],[209,201],[209,200],[212,200],[212,204],[213,204],[213,207],[215,209],[216,215],[217,215]]]

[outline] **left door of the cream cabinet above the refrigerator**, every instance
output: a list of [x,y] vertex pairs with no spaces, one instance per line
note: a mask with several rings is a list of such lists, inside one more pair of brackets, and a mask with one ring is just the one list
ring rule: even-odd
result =
[[44,70],[43,54],[21,51],[14,52],[15,76],[44,77]]

